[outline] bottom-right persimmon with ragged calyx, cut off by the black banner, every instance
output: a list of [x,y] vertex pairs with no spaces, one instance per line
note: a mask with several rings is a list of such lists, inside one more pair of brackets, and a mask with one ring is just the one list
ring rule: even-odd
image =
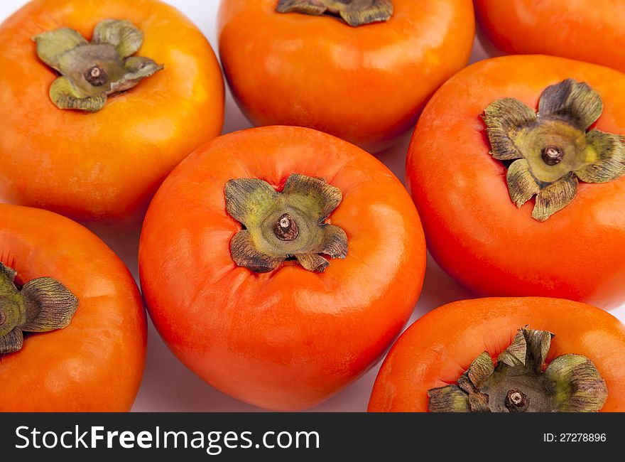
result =
[[369,412],[428,410],[624,412],[625,327],[562,299],[436,308],[393,345],[369,401]]

